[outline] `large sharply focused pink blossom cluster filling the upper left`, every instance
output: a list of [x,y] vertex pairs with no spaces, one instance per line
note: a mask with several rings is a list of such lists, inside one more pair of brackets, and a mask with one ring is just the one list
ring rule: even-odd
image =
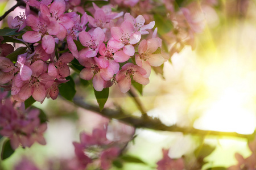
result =
[[[80,16],[75,10],[80,1],[25,2],[26,14],[10,17],[9,27],[19,28],[18,31],[30,27],[22,39],[33,48],[20,54],[15,64],[0,57],[0,84],[11,84],[11,95],[17,101],[23,102],[30,96],[40,102],[45,97],[56,99],[58,85],[67,82],[65,78],[71,73],[67,64],[74,58],[84,66],[80,77],[92,79],[96,91],[114,82],[124,93],[129,91],[132,80],[148,84],[151,66],[160,66],[168,59],[158,50],[162,40],[156,37],[157,29],[150,39],[141,39],[155,25],[154,21],[145,24],[142,15],[134,18],[126,13],[122,18],[123,12],[112,12],[112,6],[100,8],[93,3],[88,8],[92,16],[86,12]],[[39,14],[32,14],[29,6],[38,8]],[[73,11],[65,12],[67,7]],[[81,50],[77,40],[84,46]],[[59,56],[60,44],[67,53]]]

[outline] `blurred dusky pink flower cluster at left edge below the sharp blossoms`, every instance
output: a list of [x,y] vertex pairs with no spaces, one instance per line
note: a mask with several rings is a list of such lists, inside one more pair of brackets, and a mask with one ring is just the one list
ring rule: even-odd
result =
[[43,137],[47,129],[46,123],[41,123],[40,110],[28,108],[24,103],[5,99],[6,93],[0,94],[0,134],[10,138],[11,147],[15,150],[19,145],[31,147],[38,142],[46,145]]

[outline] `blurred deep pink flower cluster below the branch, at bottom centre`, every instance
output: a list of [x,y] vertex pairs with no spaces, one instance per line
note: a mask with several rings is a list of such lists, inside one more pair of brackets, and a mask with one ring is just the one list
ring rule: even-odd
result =
[[71,169],[85,169],[89,165],[109,169],[112,162],[121,155],[134,134],[134,128],[127,125],[108,125],[105,128],[93,129],[92,134],[80,133],[80,143],[73,142],[76,159],[69,167]]

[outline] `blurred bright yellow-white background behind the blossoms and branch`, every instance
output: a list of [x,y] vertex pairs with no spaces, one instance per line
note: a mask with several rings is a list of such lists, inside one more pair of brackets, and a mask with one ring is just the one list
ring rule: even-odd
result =
[[[13,6],[11,3],[0,2],[0,15]],[[143,88],[139,99],[149,116],[158,117],[168,126],[253,134],[256,124],[256,2],[216,1],[212,6],[201,5],[201,9],[205,28],[196,35],[195,50],[185,46],[181,52],[174,53],[171,62],[164,63],[163,76],[152,71],[150,84]],[[2,24],[2,28],[6,26]],[[97,104],[92,87],[77,86],[76,91],[80,95],[77,100]],[[61,169],[61,161],[75,155],[72,142],[79,141],[79,133],[90,132],[108,122],[100,114],[76,107],[61,97],[34,105],[42,108],[49,120],[45,134],[47,145],[19,148],[11,158],[0,162],[2,169],[12,169],[23,156],[42,169],[46,163],[52,163],[53,169]],[[122,94],[117,86],[110,88],[105,107],[121,107],[130,113],[128,117],[141,115],[134,100]],[[207,163],[202,169],[237,164],[236,152],[245,158],[251,154],[247,139],[243,137],[150,129],[137,129],[135,134],[137,137],[129,143],[127,153],[146,164],[126,163],[122,169],[155,169],[156,162],[162,159],[162,148],[170,148],[171,158],[180,158],[193,154],[200,146],[209,145],[213,149],[204,159]],[[59,160],[59,163],[51,160]]]

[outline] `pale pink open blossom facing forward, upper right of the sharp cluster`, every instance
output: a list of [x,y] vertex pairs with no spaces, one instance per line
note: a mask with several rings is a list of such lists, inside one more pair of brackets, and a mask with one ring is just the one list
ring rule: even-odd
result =
[[109,46],[115,49],[123,48],[123,52],[128,56],[133,56],[134,44],[141,40],[141,32],[136,31],[135,27],[128,20],[124,21],[120,27],[111,28],[112,38],[109,40]]

